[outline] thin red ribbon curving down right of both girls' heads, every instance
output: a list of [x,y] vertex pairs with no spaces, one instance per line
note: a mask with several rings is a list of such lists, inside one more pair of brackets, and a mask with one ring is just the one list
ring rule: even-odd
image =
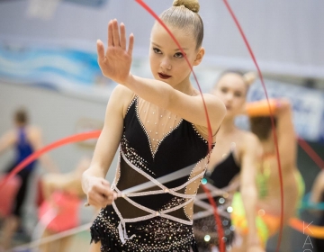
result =
[[284,184],[283,184],[282,166],[281,166],[280,157],[279,157],[278,139],[277,139],[277,135],[276,135],[276,131],[275,131],[274,113],[271,111],[271,106],[270,106],[270,103],[269,103],[269,97],[268,97],[268,94],[266,92],[266,85],[265,85],[264,77],[263,77],[263,75],[261,73],[260,67],[257,64],[257,58],[255,57],[255,55],[254,55],[254,53],[253,53],[253,51],[252,51],[252,49],[251,49],[251,47],[250,47],[250,45],[249,45],[249,43],[247,41],[247,37],[246,37],[241,25],[238,23],[238,18],[236,17],[234,12],[230,8],[228,1],[223,0],[223,3],[226,5],[230,16],[232,17],[234,23],[237,25],[238,31],[239,31],[242,39],[244,40],[244,43],[247,46],[247,50],[249,52],[249,55],[252,58],[255,66],[257,67],[257,73],[258,73],[258,75],[260,77],[262,86],[264,88],[264,91],[265,91],[265,94],[266,94],[266,101],[268,103],[268,107],[269,107],[269,111],[270,111],[271,124],[272,124],[272,128],[273,128],[273,135],[274,135],[274,140],[275,140],[275,150],[276,150],[276,158],[277,158],[278,170],[279,170],[279,182],[280,182],[280,193],[281,193],[280,230],[279,230],[278,243],[277,243],[277,247],[276,247],[276,251],[279,251],[282,236],[283,236],[283,228],[284,228]]

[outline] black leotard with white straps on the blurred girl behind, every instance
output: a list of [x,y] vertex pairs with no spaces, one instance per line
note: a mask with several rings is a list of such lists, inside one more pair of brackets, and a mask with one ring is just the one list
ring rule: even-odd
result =
[[[231,225],[230,210],[233,192],[238,190],[238,181],[230,183],[239,174],[240,166],[235,161],[234,153],[231,151],[229,156],[220,164],[216,165],[212,171],[205,175],[208,181],[206,186],[213,193],[213,200],[216,202],[224,237],[227,245],[230,245],[234,238],[234,229]],[[219,234],[212,212],[210,202],[206,198],[202,188],[199,189],[197,199],[194,204],[193,233],[199,247],[199,251],[211,251],[211,247],[218,246]]]

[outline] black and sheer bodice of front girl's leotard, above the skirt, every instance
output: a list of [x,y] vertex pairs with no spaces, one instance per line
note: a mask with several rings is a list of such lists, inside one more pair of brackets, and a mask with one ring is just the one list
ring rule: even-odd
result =
[[[187,174],[165,183],[164,190],[181,186],[195,177],[190,184],[176,191],[183,195],[195,194],[206,168],[207,153],[207,142],[194,129],[192,123],[135,97],[125,116],[116,187],[120,191],[126,190],[191,166]],[[160,189],[161,186],[155,183],[145,191]],[[153,197],[154,200],[149,199]],[[188,198],[185,199],[182,195],[176,196],[175,193],[154,193],[137,195],[131,200],[154,211],[160,211],[184,203]],[[124,199],[116,201],[122,215],[144,214],[138,207],[134,207],[134,204],[126,202]],[[132,211],[128,211],[129,209]],[[192,212],[179,209],[170,214],[183,220],[190,220]]]

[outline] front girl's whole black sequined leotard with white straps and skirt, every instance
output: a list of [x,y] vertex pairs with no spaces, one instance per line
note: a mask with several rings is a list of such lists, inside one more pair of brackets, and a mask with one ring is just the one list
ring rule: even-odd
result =
[[112,225],[108,231],[130,251],[138,249],[139,242],[143,251],[155,251],[154,246],[171,251],[172,239],[178,247],[188,246],[193,240],[193,200],[208,156],[208,143],[191,122],[136,96],[124,118],[120,163],[112,183],[122,197],[104,210],[117,215],[119,222],[113,224],[116,220],[102,211],[101,218]]

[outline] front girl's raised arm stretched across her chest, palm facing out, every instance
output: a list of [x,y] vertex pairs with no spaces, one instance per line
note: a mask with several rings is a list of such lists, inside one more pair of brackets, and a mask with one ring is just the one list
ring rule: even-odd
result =
[[[195,125],[207,127],[201,97],[184,94],[163,81],[130,74],[133,40],[133,36],[130,35],[129,49],[126,49],[124,25],[121,23],[119,31],[116,20],[109,23],[106,52],[104,52],[103,43],[97,42],[98,62],[103,75],[125,85],[149,103],[174,112]],[[220,127],[226,109],[223,103],[212,94],[204,94],[204,100],[210,116],[212,133],[215,133]]]

